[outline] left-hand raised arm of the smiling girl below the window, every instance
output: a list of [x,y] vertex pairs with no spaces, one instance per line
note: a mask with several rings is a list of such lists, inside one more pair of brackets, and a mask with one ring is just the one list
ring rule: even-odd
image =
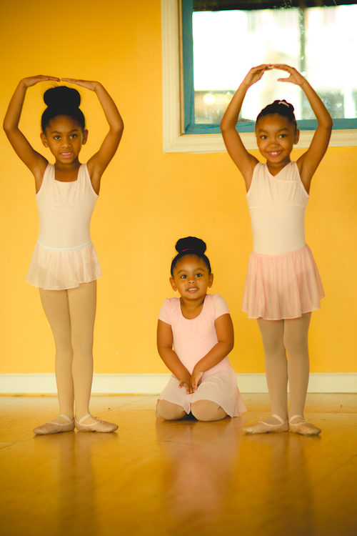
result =
[[248,153],[244,147],[241,137],[236,131],[236,124],[246,92],[253,84],[261,79],[265,71],[270,69],[273,69],[273,66],[259,65],[258,67],[253,67],[253,69],[248,72],[246,78],[238,87],[233,99],[229,103],[226,113],[221,121],[221,132],[228,154],[243,175],[247,191],[251,186],[253,169],[258,160],[253,157],[252,154]]

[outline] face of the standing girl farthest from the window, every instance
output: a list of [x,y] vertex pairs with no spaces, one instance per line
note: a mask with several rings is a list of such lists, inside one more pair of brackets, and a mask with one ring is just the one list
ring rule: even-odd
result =
[[42,143],[61,164],[71,164],[78,159],[83,144],[86,143],[88,131],[72,117],[59,115],[51,119],[46,132],[41,133]]

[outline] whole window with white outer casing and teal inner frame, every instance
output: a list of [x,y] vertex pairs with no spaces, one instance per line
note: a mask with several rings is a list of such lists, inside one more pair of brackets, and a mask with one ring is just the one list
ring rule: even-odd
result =
[[[341,16],[343,10],[338,13],[332,5],[324,8],[307,7],[306,9],[299,9],[296,6],[289,9],[257,9],[262,6],[266,8],[268,4],[271,4],[268,0],[251,2],[226,0],[224,2],[226,7],[231,8],[233,4],[234,6],[239,4],[240,9],[233,11],[224,9],[212,12],[211,10],[216,9],[219,3],[220,0],[181,1],[183,54],[180,63],[178,21],[181,20],[181,14],[179,17],[176,0],[162,0],[164,151],[212,152],[224,150],[218,126],[221,116],[248,69],[253,64],[262,62],[293,64],[298,70],[305,71],[307,79],[317,89],[334,117],[334,127],[337,130],[333,131],[331,146],[356,146],[357,74],[356,69],[351,70],[351,65],[345,68],[343,64],[344,58],[346,58],[347,64],[351,64],[351,60],[357,55],[356,32],[352,32],[353,20],[356,20],[357,14],[356,3],[350,2],[354,5],[335,6],[337,9],[343,8],[343,16]],[[287,3],[293,4],[292,1],[289,1],[285,2],[285,5]],[[315,4],[315,2],[305,2],[305,5],[312,3]],[[335,2],[333,1],[331,4],[335,4]],[[253,6],[254,9],[247,9],[247,6],[250,8]],[[244,7],[246,9],[242,9]],[[201,11],[201,9],[209,11]],[[346,9],[354,9],[354,14],[351,15],[350,11],[346,15]],[[221,19],[228,16],[228,21],[226,19],[223,22],[225,29],[223,37],[219,36],[217,16]],[[336,33],[336,19],[338,18],[342,20],[344,18],[345,21],[341,35]],[[211,22],[208,24],[208,21]],[[203,31],[200,29],[200,24]],[[233,26],[233,29],[238,27],[239,32],[229,30],[229,24]],[[274,28],[273,31],[271,31],[272,28]],[[318,32],[313,31],[317,28]],[[199,36],[200,31],[201,37]],[[215,39],[215,36],[218,36],[218,39]],[[238,43],[236,48],[232,46],[229,39],[227,41],[227,37],[236,39]],[[268,42],[267,38],[269,38]],[[317,38],[318,46],[316,47]],[[240,43],[239,39],[241,39]],[[262,41],[264,46],[261,46]],[[342,51],[338,51],[336,41],[343,44]],[[218,46],[221,46],[221,51],[218,50]],[[321,54],[322,46],[323,55]],[[209,54],[207,54],[207,50]],[[236,61],[236,72],[223,66],[222,58],[228,56],[229,50],[232,50],[235,56],[241,54]],[[253,54],[256,61],[253,61],[252,56],[248,57],[248,51]],[[265,54],[266,51],[269,54],[275,54],[273,59],[269,60],[265,59],[264,56],[258,56],[259,53]],[[193,61],[193,54],[195,58],[198,58],[196,61]],[[207,61],[207,57],[208,64],[205,66],[204,62]],[[200,63],[203,64],[201,72]],[[276,80],[277,71],[274,72]],[[325,78],[321,77],[321,73],[324,74]],[[216,76],[212,76],[212,74]],[[232,74],[233,76],[231,76]],[[283,96],[280,96],[281,94],[275,96],[276,89],[271,87],[272,80],[268,80],[269,74],[264,75],[267,77],[266,83],[269,84],[269,91],[266,91],[266,87],[261,91],[259,84],[256,84],[247,95],[247,97],[250,95],[250,98],[244,102],[238,126],[239,131],[246,132],[246,134],[242,134],[244,144],[247,149],[256,148],[253,121],[258,111],[275,98],[286,98],[293,102],[297,118],[301,121],[300,128],[303,131],[298,147],[308,147],[313,130],[316,128],[316,120],[309,115],[311,114],[309,104],[303,100],[301,90],[293,84],[275,82],[280,86],[283,85]],[[345,74],[347,75],[345,76],[346,80],[341,82]],[[285,75],[282,73],[282,76]],[[319,79],[318,76],[320,76]],[[179,104],[180,83],[184,96],[184,99],[181,99],[181,106]],[[263,97],[267,98],[266,103],[261,101]]]

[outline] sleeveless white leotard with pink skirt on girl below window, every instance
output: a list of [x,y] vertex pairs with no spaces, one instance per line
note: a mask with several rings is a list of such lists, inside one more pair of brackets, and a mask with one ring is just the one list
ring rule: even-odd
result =
[[256,164],[246,195],[253,252],[242,309],[249,318],[297,318],[320,308],[323,287],[305,242],[308,197],[296,162],[275,176],[266,164]]

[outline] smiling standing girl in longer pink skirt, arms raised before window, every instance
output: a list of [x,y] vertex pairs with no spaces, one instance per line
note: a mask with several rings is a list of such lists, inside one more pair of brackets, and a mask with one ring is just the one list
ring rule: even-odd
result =
[[[293,106],[286,101],[266,106],[256,121],[258,149],[266,164],[246,151],[235,128],[246,91],[270,69],[288,72],[288,78],[278,81],[300,86],[318,120],[310,147],[296,162],[291,162],[290,155],[298,143],[299,131]],[[304,216],[311,179],[326,153],[331,129],[331,116],[308,81],[296,69],[281,64],[253,67],[221,121],[228,154],[243,175],[248,192],[253,252],[243,311],[258,321],[272,410],[268,419],[243,429],[248,434],[321,432],[303,418],[309,374],[308,326],[311,312],[320,307],[319,300],[324,295],[311,250],[305,243]]]

